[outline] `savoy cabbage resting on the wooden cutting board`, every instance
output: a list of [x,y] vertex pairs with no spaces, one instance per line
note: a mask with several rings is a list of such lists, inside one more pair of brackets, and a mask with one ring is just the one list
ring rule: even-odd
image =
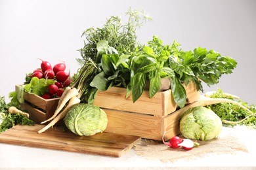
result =
[[68,110],[64,123],[73,133],[90,136],[106,129],[108,117],[100,107],[80,103]]

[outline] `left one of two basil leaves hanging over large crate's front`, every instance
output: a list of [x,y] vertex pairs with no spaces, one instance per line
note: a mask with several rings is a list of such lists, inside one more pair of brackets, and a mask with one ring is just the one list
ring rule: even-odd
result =
[[133,103],[135,103],[135,101],[142,95],[146,86],[146,75],[144,73],[137,73],[133,76],[131,81],[132,98]]

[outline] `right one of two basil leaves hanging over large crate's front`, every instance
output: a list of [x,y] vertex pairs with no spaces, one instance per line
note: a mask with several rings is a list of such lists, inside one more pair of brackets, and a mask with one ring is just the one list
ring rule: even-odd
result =
[[161,76],[160,71],[152,71],[150,72],[150,98],[154,97],[154,95],[160,90],[161,86]]

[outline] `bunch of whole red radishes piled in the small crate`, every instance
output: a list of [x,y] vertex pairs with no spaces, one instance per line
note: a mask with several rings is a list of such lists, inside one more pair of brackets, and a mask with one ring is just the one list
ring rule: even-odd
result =
[[51,99],[54,97],[60,97],[64,92],[64,88],[70,86],[72,80],[70,79],[70,73],[67,73],[65,63],[57,63],[52,67],[48,61],[40,59],[41,68],[35,69],[32,73],[32,77],[37,78],[53,79],[56,80],[54,84],[48,86],[48,92],[43,94],[41,97],[44,99]]

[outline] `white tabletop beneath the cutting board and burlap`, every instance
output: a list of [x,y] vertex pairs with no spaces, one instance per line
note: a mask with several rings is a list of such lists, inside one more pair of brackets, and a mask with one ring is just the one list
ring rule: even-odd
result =
[[220,135],[234,135],[244,143],[249,152],[238,154],[207,154],[196,160],[179,160],[163,163],[146,160],[130,150],[120,158],[65,152],[45,148],[33,148],[0,143],[0,169],[169,169],[194,167],[195,169],[256,169],[256,129],[245,126],[223,127]]

